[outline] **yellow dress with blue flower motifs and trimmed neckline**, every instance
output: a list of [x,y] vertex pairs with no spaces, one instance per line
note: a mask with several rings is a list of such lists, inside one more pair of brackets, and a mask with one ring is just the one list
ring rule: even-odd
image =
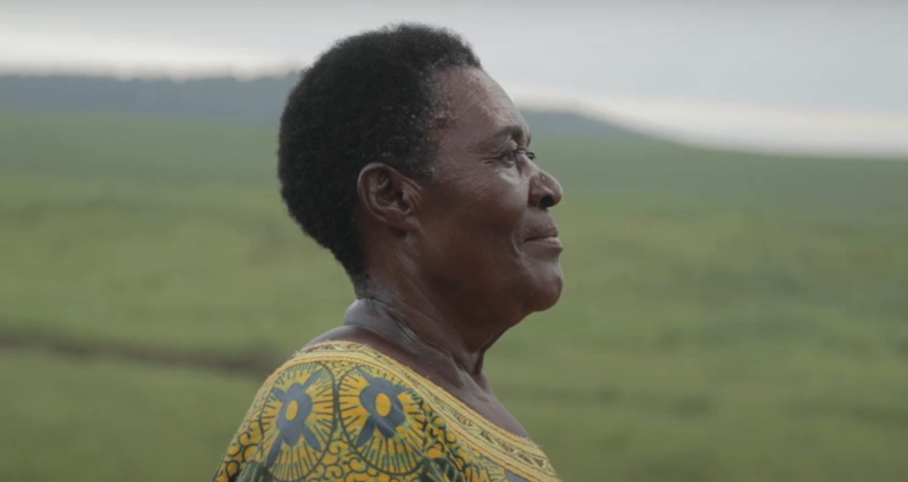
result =
[[310,346],[265,381],[215,482],[558,482],[526,438],[369,346]]

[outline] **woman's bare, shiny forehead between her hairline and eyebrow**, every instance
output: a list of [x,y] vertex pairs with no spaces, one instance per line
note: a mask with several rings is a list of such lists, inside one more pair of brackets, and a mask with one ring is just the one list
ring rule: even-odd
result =
[[477,68],[453,69],[439,76],[439,95],[453,117],[441,133],[442,144],[463,146],[493,141],[504,135],[528,141],[529,131],[523,115],[501,85]]

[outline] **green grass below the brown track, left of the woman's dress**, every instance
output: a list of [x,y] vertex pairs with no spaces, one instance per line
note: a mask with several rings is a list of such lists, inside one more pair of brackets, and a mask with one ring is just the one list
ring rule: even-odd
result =
[[250,379],[0,351],[0,480],[209,480]]

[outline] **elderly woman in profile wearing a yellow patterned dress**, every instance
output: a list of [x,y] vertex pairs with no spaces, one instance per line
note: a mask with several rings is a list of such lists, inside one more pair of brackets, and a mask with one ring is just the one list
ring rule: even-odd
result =
[[561,294],[561,187],[457,35],[351,36],[281,117],[281,194],[356,301],[252,402],[216,481],[556,481],[483,373]]

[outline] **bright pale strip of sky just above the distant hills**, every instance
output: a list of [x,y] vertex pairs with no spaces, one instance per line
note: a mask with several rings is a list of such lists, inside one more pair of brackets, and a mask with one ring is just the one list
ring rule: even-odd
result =
[[[299,60],[173,69],[113,65],[0,65],[0,76],[159,80],[173,83],[234,78],[241,82],[299,73]],[[504,85],[524,108],[567,112],[693,146],[773,154],[908,156],[908,115],[798,109],[690,98],[630,97]]]

